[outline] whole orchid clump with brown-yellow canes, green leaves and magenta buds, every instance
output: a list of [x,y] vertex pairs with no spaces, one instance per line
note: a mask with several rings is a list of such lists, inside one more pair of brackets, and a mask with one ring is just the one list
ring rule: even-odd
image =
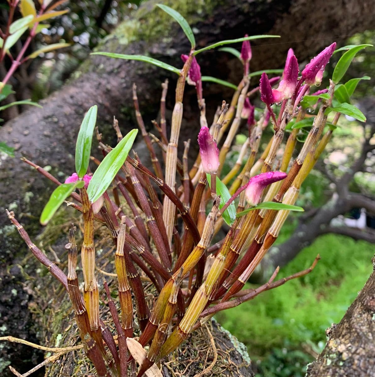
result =
[[[66,288],[87,357],[100,377],[125,377],[128,373],[138,377],[144,374],[161,376],[159,362],[215,313],[309,273],[319,256],[307,270],[275,280],[277,268],[267,284],[256,290],[242,289],[276,241],[290,211],[303,211],[294,205],[300,187],[329,142],[340,115],[348,114],[365,121],[360,110],[350,103],[350,97],[360,78],[339,84],[356,52],[366,47],[365,45],[336,50],[346,52],[338,61],[327,89],[323,91],[309,94],[312,86],[323,82],[326,64],[335,53],[335,43],[314,57],[302,70],[302,74],[299,74],[294,52],[289,49],[281,81],[279,82],[280,77],[269,79],[266,72],[260,72],[259,86],[250,89],[254,74],[250,73],[252,52],[249,40],[275,36],[246,35],[196,50],[194,34],[185,19],[167,6],[159,7],[178,21],[191,42],[190,52],[182,55],[182,69],[141,55],[94,53],[145,61],[178,75],[169,141],[165,128],[167,82],[163,84],[160,123],[155,123],[160,139],[146,132],[136,87],[133,87],[136,118],[152,157],[154,172],[142,164],[136,153],[129,156],[137,130],[122,136],[116,120],[113,126],[118,137],[117,146],[112,149],[104,144],[97,133],[104,159],[100,162],[91,158],[98,167],[92,176],[87,172],[97,115],[96,106],[88,110],[81,124],[75,155],[76,172],[64,183],[33,162],[23,159],[58,185],[43,210],[42,224],[51,219],[69,196],[74,200],[69,205],[83,214],[83,296],[76,274],[77,245],[74,228],[70,229],[69,243],[66,245],[66,274],[31,242],[26,231],[15,219],[14,213],[8,212],[9,219],[16,225],[32,253]],[[206,80],[201,76],[197,56],[202,51],[236,42],[242,42],[240,53],[228,48],[225,51],[234,53],[242,61],[243,78],[234,86],[231,102],[227,104],[223,101],[208,127],[202,89],[202,82]],[[220,82],[213,78],[209,80]],[[191,141],[184,141],[182,161],[177,152],[177,145],[181,142],[179,131],[186,82],[196,86],[197,109],[201,114],[201,130],[197,136],[200,152],[190,169],[187,154]],[[277,88],[272,89],[278,82]],[[233,87],[231,83],[224,84]],[[262,112],[255,113],[250,98],[257,95],[259,90],[260,99],[266,107]],[[308,109],[313,109],[313,112],[308,113]],[[330,112],[335,115],[328,122]],[[247,119],[248,137],[239,153],[238,161],[226,176],[222,176],[223,163],[231,150],[234,137],[239,132],[242,118]],[[269,120],[272,122],[274,135],[261,152],[260,140],[269,126]],[[285,141],[286,133],[289,133],[289,136]],[[222,142],[224,136],[225,140]],[[157,158],[156,147],[161,149],[164,169],[163,163]],[[293,158],[296,148],[299,152],[297,157]],[[276,152],[280,149],[283,149],[283,155],[278,161]],[[179,180],[180,185],[176,184]],[[127,213],[132,215],[125,215],[124,205],[129,207]],[[208,215],[207,207],[210,208]],[[118,291],[120,315],[104,281],[117,332],[116,340],[103,326],[99,313],[94,221],[105,224],[110,230],[116,249],[116,278],[113,286]],[[228,224],[229,231],[223,239],[213,244],[213,237],[218,234],[224,222]],[[176,224],[183,224],[181,231]],[[210,264],[208,256],[211,256]],[[148,307],[145,301],[141,274],[147,276],[158,291],[153,307]],[[135,315],[139,327],[137,337],[133,328]],[[138,371],[136,363],[139,365]]]

